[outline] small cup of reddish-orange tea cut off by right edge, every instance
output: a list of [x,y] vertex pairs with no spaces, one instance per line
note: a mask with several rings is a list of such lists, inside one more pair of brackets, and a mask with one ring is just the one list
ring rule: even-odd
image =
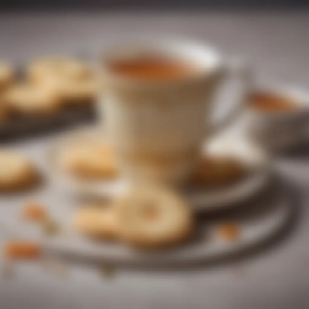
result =
[[256,142],[276,151],[288,150],[304,142],[309,132],[308,93],[296,87],[268,84],[254,87],[252,94],[262,95],[266,100],[262,106],[248,101],[246,129]]

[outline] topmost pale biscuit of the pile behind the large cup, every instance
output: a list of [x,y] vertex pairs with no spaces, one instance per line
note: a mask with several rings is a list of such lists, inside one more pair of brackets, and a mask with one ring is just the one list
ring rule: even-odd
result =
[[27,69],[28,79],[38,83],[50,77],[85,80],[92,76],[93,71],[86,62],[70,58],[39,59]]

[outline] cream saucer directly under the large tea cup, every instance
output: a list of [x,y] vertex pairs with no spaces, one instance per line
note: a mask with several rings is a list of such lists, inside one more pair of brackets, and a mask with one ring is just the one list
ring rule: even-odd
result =
[[[98,136],[93,128],[86,128],[68,134],[58,140],[49,152],[46,160],[46,172],[61,190],[77,197],[112,198],[129,188],[127,180],[119,177],[115,180],[80,179],[60,169],[55,155],[62,146],[78,140],[81,142]],[[211,154],[233,155],[240,158],[247,167],[247,175],[230,185],[217,189],[195,188],[187,186],[183,193],[198,211],[212,211],[231,207],[260,192],[270,179],[269,157],[258,146],[236,134],[224,134],[204,145],[204,150]]]

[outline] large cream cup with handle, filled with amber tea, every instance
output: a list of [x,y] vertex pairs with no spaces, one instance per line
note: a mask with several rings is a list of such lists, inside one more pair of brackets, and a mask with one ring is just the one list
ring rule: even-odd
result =
[[[182,80],[149,81],[121,76],[108,66],[109,61],[148,53],[191,61],[199,69]],[[104,91],[99,109],[104,130],[123,171],[135,180],[178,183],[188,179],[203,142],[242,110],[247,93],[245,71],[232,70],[218,53],[203,44],[131,41],[107,49],[100,60]],[[230,99],[218,103],[214,98],[216,89],[231,72],[240,81],[240,89],[232,95],[235,103],[231,105]],[[219,106],[228,112],[214,123],[214,108]]]

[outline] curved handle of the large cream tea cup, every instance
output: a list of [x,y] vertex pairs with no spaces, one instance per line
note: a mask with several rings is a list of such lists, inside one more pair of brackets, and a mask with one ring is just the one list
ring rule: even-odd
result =
[[[215,120],[214,123],[210,126],[210,132],[208,131],[208,133],[211,135],[215,135],[219,131],[225,129],[237,118],[237,116],[239,116],[239,114],[243,111],[245,104],[247,103],[248,94],[251,88],[251,70],[249,70],[247,64],[245,64],[243,61],[240,61],[239,59],[228,61],[223,67],[222,75],[223,84],[226,81],[232,81],[233,78],[236,78],[235,81],[238,82],[239,85],[238,89],[237,87],[236,89],[234,87],[234,89],[224,89],[223,91],[221,87],[219,87],[220,89],[215,94],[215,102],[212,105],[215,107],[215,110],[212,111],[212,119],[216,119],[218,117],[216,112],[218,112],[220,108],[226,109],[226,106],[229,106],[229,108],[227,111],[225,110],[223,115],[221,115],[219,119]],[[233,91],[234,94],[231,95],[231,92]],[[231,97],[234,97],[234,99],[231,99]],[[219,112],[222,111],[219,110]]]

